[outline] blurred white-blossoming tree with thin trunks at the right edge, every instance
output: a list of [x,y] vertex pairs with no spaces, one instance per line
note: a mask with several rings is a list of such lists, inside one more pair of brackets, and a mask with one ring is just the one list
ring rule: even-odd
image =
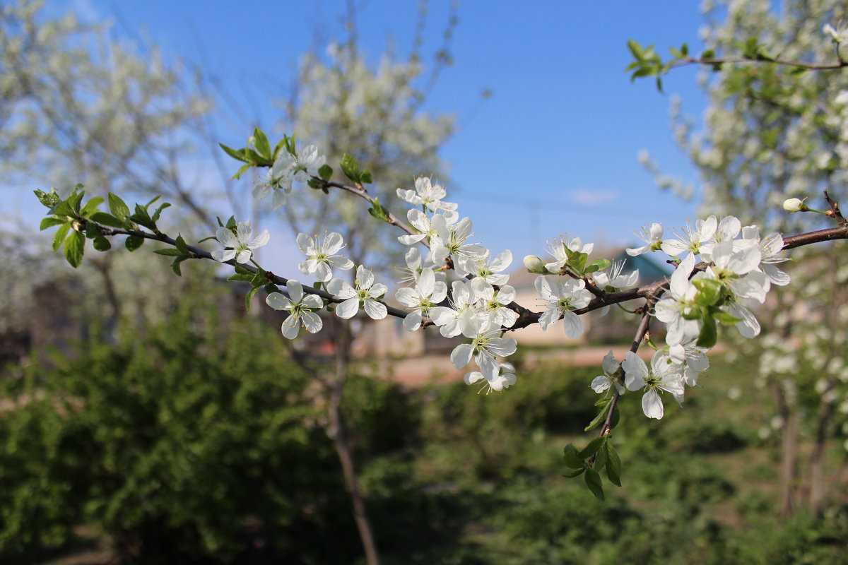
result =
[[[739,53],[748,38],[787,60],[823,63],[845,57],[823,32],[828,22],[841,25],[848,18],[843,1],[773,6],[766,0],[707,0],[702,8],[708,17],[701,31],[705,47],[717,57]],[[678,101],[672,102],[676,140],[700,173],[703,213],[733,214],[743,225],[762,224],[784,234],[822,227],[828,222],[824,216],[787,214],[781,205],[789,197],[817,201],[823,189],[837,200],[848,195],[848,99],[840,96],[848,90],[845,73],[775,64],[724,64],[712,70],[718,72],[705,69],[700,78],[709,100],[701,129],[682,114]],[[659,170],[650,159],[647,166]],[[661,186],[692,196],[680,180],[657,178]],[[791,289],[778,293],[769,314],[762,314],[764,333],[772,336],[741,345],[761,358],[756,383],[773,394],[773,425],[782,435],[784,513],[799,502],[822,510],[826,442],[848,432],[837,425],[848,422],[848,370],[842,361],[848,346],[848,272],[836,259],[844,250],[843,242],[802,250],[805,269],[789,269]],[[840,402],[843,413],[834,409]],[[799,470],[799,434],[814,444],[807,479]]]

